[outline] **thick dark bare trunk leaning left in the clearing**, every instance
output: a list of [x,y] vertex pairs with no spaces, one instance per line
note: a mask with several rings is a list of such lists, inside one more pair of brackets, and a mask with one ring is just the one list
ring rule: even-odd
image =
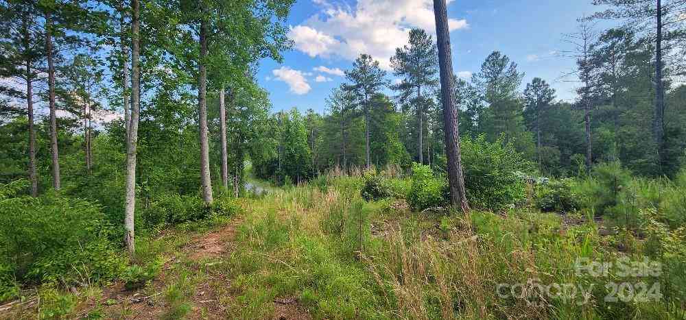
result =
[[450,184],[450,203],[455,208],[469,212],[466,199],[462,160],[460,158],[460,130],[458,128],[458,110],[453,97],[453,62],[448,32],[448,14],[445,0],[434,0],[436,18],[436,40],[438,42],[438,61],[440,66],[440,92],[445,122],[445,149],[448,160],[448,178]]

